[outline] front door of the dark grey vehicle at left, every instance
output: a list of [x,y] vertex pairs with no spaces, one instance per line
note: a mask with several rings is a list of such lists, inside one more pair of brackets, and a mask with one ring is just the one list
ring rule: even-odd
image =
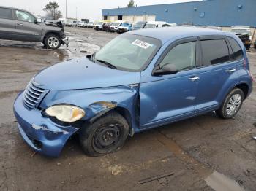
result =
[[21,10],[15,10],[15,17],[18,40],[40,42],[42,26],[40,23],[35,23],[37,18]]

